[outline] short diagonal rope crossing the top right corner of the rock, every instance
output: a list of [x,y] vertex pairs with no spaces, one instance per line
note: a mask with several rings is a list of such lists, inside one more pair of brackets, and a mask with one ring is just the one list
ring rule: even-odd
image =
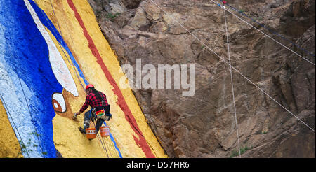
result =
[[[223,2],[223,0],[220,0]],[[253,22],[256,22],[256,24],[259,24],[261,27],[263,27],[264,29],[270,31],[272,34],[275,34],[276,36],[279,36],[279,38],[282,38],[284,41],[287,41],[289,43],[291,43],[291,45],[296,46],[296,48],[303,50],[304,52],[308,53],[309,55],[315,57],[315,54],[313,54],[312,52],[309,52],[308,50],[305,50],[304,48],[301,48],[301,46],[297,45],[296,43],[290,41],[288,38],[285,38],[284,36],[282,36],[281,34],[277,33],[276,31],[272,31],[272,29],[269,29],[268,27],[265,27],[265,25],[261,24],[260,22],[257,22],[253,17],[250,17],[249,15],[246,15],[245,13],[242,12],[242,10],[237,10],[237,8],[230,6],[230,4],[225,3],[226,6],[229,6],[230,8],[232,8],[233,10],[235,10],[237,13],[240,13],[242,15],[244,15],[244,17],[249,18],[250,20],[252,20]]]

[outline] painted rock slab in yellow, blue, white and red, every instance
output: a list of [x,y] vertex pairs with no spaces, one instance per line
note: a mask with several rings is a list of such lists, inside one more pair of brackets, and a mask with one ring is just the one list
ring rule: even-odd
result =
[[[0,0],[0,157],[167,157],[119,69],[88,1]],[[72,119],[89,83],[112,114],[93,140]]]

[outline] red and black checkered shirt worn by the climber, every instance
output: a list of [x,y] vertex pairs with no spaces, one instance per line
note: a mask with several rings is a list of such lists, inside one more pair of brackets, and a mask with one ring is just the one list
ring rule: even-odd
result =
[[[103,106],[107,106],[108,105],[107,96],[105,96],[103,92],[100,92],[100,96],[101,96],[101,99],[103,99]],[[86,102],[84,102],[84,106],[82,106],[82,108],[80,109],[80,112],[83,113],[84,110],[86,110],[89,105],[91,106],[91,108],[102,107],[102,101],[98,100],[96,97],[96,94],[91,92],[90,94],[86,96]]]

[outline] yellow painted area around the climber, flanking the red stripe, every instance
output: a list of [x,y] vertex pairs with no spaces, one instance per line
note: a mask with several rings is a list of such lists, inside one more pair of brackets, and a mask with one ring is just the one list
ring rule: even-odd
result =
[[[138,136],[135,134],[133,129],[131,129],[129,122],[126,121],[124,112],[121,110],[121,108],[119,108],[119,106],[117,106],[117,96],[112,90],[113,87],[105,78],[104,74],[102,73],[102,69],[96,62],[96,57],[93,57],[91,50],[88,48],[88,41],[86,41],[82,29],[77,22],[76,17],[74,17],[72,9],[68,6],[67,1],[52,0],[53,6],[55,6],[54,10],[57,18],[55,18],[53,15],[53,10],[51,9],[49,0],[37,0],[36,2],[39,7],[45,11],[46,15],[48,15],[57,29],[59,29],[59,23],[64,41],[72,51],[72,54],[76,58],[79,66],[81,67],[81,71],[84,73],[84,76],[88,82],[93,83],[93,85],[96,86],[96,89],[104,92],[107,95],[107,99],[111,104],[111,113],[113,114],[112,120],[107,122],[107,124],[110,126],[111,133],[116,139],[117,146],[121,151],[121,155],[123,157],[145,157],[144,152],[141,150],[141,148],[139,148],[133,139],[133,136]],[[102,32],[100,31],[91,6],[87,1],[74,1],[74,3],[82,19],[84,20],[86,29],[93,39],[93,42],[96,44],[103,61],[105,64],[107,64],[107,69],[110,71],[115,82],[119,83],[120,78],[125,78],[125,76],[123,73],[119,73],[120,66],[119,62],[117,61],[117,57],[115,57],[110,45],[107,43]],[[52,35],[51,37],[53,38]],[[55,38],[53,38],[53,41],[60,50],[62,57],[65,59],[65,55],[62,54],[63,52],[60,49],[57,41],[55,41]],[[67,94],[65,90],[62,92],[62,94],[65,96],[65,99],[67,99],[67,110],[69,110],[62,115],[70,117],[82,106],[86,95],[84,90],[80,88],[81,85],[75,76],[72,66],[70,66],[70,64],[67,62],[67,59],[65,59],[65,62],[67,63],[68,69],[70,69],[70,72],[72,73],[72,77],[74,78],[79,91],[79,97],[73,97]],[[131,109],[131,113],[136,118],[138,127],[142,131],[145,140],[147,141],[148,145],[150,145],[152,153],[154,153],[156,157],[166,157],[164,150],[161,148],[157,138],[154,136],[150,127],[148,126],[145,116],[138,106],[131,89],[121,89],[121,92],[127,105]],[[100,150],[100,145],[98,145],[96,151],[86,151],[86,147],[90,146],[89,143],[91,142],[86,142],[88,140],[84,138],[84,136],[79,133],[77,129],[78,126],[82,126],[84,116],[83,114],[79,116],[79,122],[73,122],[69,118],[67,119],[62,117],[62,115],[58,114],[54,118],[53,129],[56,148],[61,152],[63,157],[98,157],[100,155],[104,155],[104,153],[102,153],[103,150]],[[67,129],[70,130],[67,131]],[[76,151],[72,151],[73,145],[75,145],[75,148],[77,149]]]

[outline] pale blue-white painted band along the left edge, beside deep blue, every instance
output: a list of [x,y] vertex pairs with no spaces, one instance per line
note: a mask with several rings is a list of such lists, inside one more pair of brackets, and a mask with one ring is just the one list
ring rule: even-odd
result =
[[[0,42],[2,41],[0,33]],[[2,46],[0,46],[1,49]],[[3,103],[6,103],[6,113],[8,120],[10,121],[13,130],[18,138],[18,141],[22,141],[25,144],[29,157],[37,158],[42,157],[42,151],[40,149],[39,139],[36,136],[36,131],[32,124],[32,117],[29,114],[27,103],[25,102],[24,94],[20,83],[18,81],[18,75],[11,69],[11,66],[4,61],[4,54],[0,53],[0,94],[3,98]],[[21,85],[25,91],[28,99],[36,99],[31,90],[21,80]],[[34,104],[40,104],[40,102],[34,102]],[[11,118],[12,117],[12,118]],[[13,126],[13,123],[15,126]],[[15,128],[16,127],[16,128]],[[37,147],[34,147],[37,145]],[[32,151],[31,151],[32,150]],[[23,152],[24,157],[28,157],[27,152]]]

